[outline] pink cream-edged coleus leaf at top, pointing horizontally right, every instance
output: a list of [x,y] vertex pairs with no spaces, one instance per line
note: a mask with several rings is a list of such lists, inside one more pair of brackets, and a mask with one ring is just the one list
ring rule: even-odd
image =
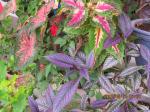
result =
[[98,3],[97,6],[96,6],[96,11],[97,12],[104,12],[104,11],[109,11],[109,10],[112,10],[114,7],[111,6],[110,4],[107,4],[107,3]]

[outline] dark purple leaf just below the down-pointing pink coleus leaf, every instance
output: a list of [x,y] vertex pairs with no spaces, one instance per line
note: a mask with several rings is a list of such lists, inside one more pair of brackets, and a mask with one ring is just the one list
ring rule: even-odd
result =
[[104,42],[104,48],[108,48],[108,47],[111,47],[111,46],[114,46],[118,43],[120,43],[122,41],[122,39],[120,38],[119,35],[116,36],[116,38],[107,38],[106,41]]

